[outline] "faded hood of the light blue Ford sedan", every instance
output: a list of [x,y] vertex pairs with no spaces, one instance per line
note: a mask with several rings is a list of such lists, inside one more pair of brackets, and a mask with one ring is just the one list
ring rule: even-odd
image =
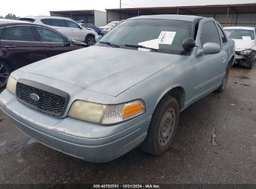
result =
[[183,56],[112,47],[87,47],[19,70],[117,96]]

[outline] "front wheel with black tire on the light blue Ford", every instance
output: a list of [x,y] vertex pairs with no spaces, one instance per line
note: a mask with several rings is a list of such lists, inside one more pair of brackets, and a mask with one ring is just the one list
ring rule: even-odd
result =
[[164,97],[154,110],[148,134],[140,148],[153,155],[169,150],[179,124],[179,104],[172,96]]

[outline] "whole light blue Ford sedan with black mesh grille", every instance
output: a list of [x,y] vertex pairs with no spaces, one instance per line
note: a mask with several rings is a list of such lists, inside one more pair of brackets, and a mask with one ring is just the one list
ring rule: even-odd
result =
[[0,108],[28,136],[90,162],[139,145],[161,155],[179,113],[223,91],[234,60],[234,41],[212,18],[133,17],[93,47],[12,72]]

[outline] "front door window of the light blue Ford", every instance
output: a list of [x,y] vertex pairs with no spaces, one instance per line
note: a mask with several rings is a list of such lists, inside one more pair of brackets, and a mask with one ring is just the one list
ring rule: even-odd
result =
[[201,47],[206,43],[216,43],[220,45],[219,32],[214,22],[205,22],[202,25]]

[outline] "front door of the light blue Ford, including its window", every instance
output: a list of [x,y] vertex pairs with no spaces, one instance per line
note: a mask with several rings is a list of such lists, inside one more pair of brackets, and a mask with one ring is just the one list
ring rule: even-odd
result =
[[219,44],[221,48],[219,53],[196,57],[196,86],[194,89],[197,96],[204,96],[221,84],[227,65],[227,53],[220,43],[220,35],[214,21],[202,19],[199,23],[198,32],[200,39],[197,52],[209,42]]

